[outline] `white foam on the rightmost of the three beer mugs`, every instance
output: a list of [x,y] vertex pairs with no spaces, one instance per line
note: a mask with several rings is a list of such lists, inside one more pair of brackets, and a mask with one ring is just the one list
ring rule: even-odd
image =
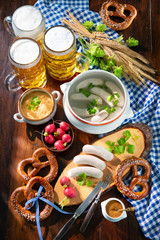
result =
[[60,52],[70,48],[73,44],[74,36],[65,27],[53,27],[45,35],[45,44],[53,51]]

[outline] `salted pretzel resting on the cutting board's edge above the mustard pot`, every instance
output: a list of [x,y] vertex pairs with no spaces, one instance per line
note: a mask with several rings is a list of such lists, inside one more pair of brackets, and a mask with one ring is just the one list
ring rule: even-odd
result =
[[[145,173],[143,174],[143,176],[138,175],[138,173],[137,173],[138,165],[144,167]],[[132,179],[129,187],[127,187],[124,184],[123,179],[122,179],[124,176],[124,172],[128,167],[132,167],[132,176],[133,176],[133,179]],[[131,199],[139,200],[148,195],[149,186],[147,184],[147,180],[148,180],[150,174],[151,174],[151,167],[150,167],[150,164],[145,159],[132,157],[130,159],[126,159],[126,160],[122,161],[117,166],[117,168],[115,169],[115,172],[114,172],[114,181],[117,186],[117,189],[122,194],[124,194],[125,196],[127,196]],[[140,185],[142,187],[142,191],[134,192],[133,190],[136,185]]]

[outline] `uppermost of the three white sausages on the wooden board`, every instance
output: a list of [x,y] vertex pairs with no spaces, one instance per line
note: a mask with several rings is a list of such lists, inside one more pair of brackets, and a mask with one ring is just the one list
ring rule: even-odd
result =
[[113,153],[109,152],[107,149],[97,146],[86,144],[83,146],[82,151],[86,154],[93,154],[103,158],[106,161],[111,161],[113,159]]

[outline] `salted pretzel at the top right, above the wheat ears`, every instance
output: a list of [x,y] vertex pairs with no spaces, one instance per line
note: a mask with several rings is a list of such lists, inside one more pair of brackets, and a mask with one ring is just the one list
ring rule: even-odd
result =
[[[115,11],[110,11],[109,7],[115,8]],[[129,11],[129,16],[125,15],[125,10]],[[130,4],[120,4],[114,0],[108,0],[101,6],[100,15],[102,21],[111,29],[121,31],[130,26],[133,19],[137,16],[137,10]],[[115,22],[111,17],[121,18],[123,22]]]

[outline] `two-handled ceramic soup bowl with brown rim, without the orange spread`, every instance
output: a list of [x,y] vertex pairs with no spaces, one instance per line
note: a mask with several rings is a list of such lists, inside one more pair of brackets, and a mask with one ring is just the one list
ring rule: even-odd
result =
[[[53,107],[52,107],[51,112],[44,118],[41,118],[38,120],[28,118],[27,116],[24,115],[24,113],[22,112],[22,109],[21,109],[21,104],[22,104],[24,97],[26,97],[27,94],[30,94],[31,92],[35,92],[35,91],[40,91],[40,92],[44,92],[44,93],[48,94],[53,101]],[[49,120],[51,120],[53,118],[53,116],[55,115],[56,110],[57,110],[57,103],[60,100],[60,98],[61,98],[61,94],[59,91],[53,91],[52,93],[49,93],[47,90],[45,90],[43,88],[29,89],[20,96],[20,98],[18,100],[18,113],[15,113],[13,115],[13,118],[15,119],[15,121],[20,122],[20,123],[27,122],[32,125],[44,124],[44,123],[48,122]]]

